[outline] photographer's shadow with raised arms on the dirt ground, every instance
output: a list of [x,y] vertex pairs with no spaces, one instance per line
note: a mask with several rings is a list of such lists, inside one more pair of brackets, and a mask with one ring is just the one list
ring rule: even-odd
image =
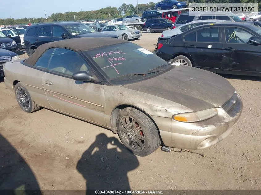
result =
[[138,165],[137,157],[115,137],[101,133],[83,153],[77,170],[86,179],[87,190],[128,190],[127,173]]

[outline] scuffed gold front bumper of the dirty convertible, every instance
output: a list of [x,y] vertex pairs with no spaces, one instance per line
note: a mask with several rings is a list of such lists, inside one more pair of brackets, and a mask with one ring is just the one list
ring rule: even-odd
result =
[[217,108],[216,116],[197,123],[151,117],[159,128],[164,145],[172,148],[203,149],[220,142],[232,132],[243,106],[240,95],[235,93],[233,97],[233,100],[230,99],[227,104],[225,103],[224,108]]

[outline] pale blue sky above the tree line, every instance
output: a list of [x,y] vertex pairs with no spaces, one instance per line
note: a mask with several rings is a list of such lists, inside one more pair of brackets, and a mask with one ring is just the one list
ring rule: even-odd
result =
[[[139,4],[158,2],[155,0],[138,0]],[[12,0],[0,3],[0,18],[45,18],[53,13],[65,13],[68,11],[99,10],[108,6],[120,7],[123,3],[137,5],[137,0]]]

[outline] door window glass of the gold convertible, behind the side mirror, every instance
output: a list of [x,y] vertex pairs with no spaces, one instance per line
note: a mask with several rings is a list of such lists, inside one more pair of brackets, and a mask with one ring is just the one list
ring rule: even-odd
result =
[[87,63],[78,55],[77,52],[56,48],[48,66],[49,71],[72,76],[78,71],[89,71]]

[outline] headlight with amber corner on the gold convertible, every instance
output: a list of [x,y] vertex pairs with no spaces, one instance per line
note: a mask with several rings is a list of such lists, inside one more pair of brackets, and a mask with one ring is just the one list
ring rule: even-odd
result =
[[216,115],[217,115],[217,109],[211,108],[207,110],[201,110],[198,112],[186,112],[186,113],[175,114],[172,116],[172,118],[180,122],[193,123],[193,122],[199,122],[202,120],[210,119]]

